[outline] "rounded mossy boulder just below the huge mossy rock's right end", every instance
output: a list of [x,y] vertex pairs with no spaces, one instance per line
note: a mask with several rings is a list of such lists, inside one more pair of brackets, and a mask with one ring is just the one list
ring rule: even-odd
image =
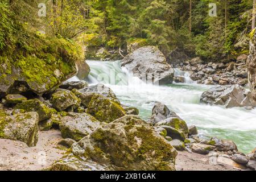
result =
[[81,104],[81,100],[69,90],[60,90],[53,93],[50,102],[58,111],[63,111],[68,108],[76,109]]

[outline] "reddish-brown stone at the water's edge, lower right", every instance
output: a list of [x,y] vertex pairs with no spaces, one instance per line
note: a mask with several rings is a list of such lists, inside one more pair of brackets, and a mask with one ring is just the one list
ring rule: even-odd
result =
[[237,150],[236,143],[234,143],[232,140],[218,139],[214,137],[210,139],[209,143],[212,144],[213,146],[216,146],[218,151]]

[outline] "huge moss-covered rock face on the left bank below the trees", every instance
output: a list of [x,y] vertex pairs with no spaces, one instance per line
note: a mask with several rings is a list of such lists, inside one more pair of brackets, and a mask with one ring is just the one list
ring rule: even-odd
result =
[[[0,97],[31,90],[43,94],[76,75],[79,46],[63,38],[23,32],[20,45],[0,50]],[[18,35],[16,35],[18,36]],[[26,87],[19,90],[20,85]]]

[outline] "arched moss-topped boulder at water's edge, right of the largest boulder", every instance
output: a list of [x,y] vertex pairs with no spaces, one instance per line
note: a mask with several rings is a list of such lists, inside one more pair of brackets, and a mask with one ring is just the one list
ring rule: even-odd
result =
[[155,126],[162,126],[162,125],[171,126],[175,129],[183,132],[186,138],[188,137],[187,123],[181,118],[174,118],[174,117],[167,118],[167,119],[164,119],[163,121],[156,123]]

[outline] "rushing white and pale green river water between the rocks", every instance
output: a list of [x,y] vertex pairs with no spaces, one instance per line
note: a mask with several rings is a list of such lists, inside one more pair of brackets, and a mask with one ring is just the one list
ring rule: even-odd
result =
[[[166,104],[188,125],[196,125],[201,137],[220,137],[234,140],[243,152],[256,147],[256,109],[225,109],[200,103],[201,94],[210,88],[190,80],[187,73],[175,69],[176,76],[184,76],[186,84],[155,86],[133,77],[119,61],[86,61],[91,69],[90,84],[108,85],[124,105],[140,110],[140,116],[148,119],[155,102]],[[76,79],[76,78],[74,78]]]

